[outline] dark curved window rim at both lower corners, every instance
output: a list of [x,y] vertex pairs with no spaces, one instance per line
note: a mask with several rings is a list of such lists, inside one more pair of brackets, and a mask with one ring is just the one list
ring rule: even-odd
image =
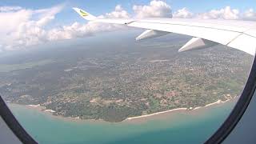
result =
[[[254,95],[254,90],[256,87],[256,58],[254,58],[254,63],[252,69],[250,70],[249,78],[246,82],[246,86],[242,91],[241,97],[238,99],[237,104],[234,106],[234,109],[230,113],[229,117],[226,118],[226,121],[222,126],[213,134],[205,143],[221,143],[234,129],[238,124],[239,120],[242,118],[242,115],[245,113],[246,108],[248,107],[251,98]],[[6,122],[7,126],[10,127],[10,130],[19,138],[23,143],[37,143],[34,138],[30,136],[18,123],[17,119],[14,118],[14,115],[11,113],[9,108],[6,106],[6,103],[0,96],[0,115],[2,119]]]

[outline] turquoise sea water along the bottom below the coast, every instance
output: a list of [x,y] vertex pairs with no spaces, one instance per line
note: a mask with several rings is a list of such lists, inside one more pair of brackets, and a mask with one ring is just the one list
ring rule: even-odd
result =
[[[224,122],[234,102],[177,111],[142,122],[89,122],[58,118],[10,104],[22,126],[39,143],[202,143]],[[158,116],[154,116],[158,117]]]

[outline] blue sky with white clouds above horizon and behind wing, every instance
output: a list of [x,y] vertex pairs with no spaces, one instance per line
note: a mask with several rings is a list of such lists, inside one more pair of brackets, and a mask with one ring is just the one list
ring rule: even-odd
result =
[[1,0],[0,53],[123,29],[122,26],[86,22],[72,7],[79,7],[101,18],[256,21],[255,0]]

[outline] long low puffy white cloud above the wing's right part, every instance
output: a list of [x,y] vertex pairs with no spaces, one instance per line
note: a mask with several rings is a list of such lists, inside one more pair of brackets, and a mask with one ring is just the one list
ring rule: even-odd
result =
[[226,6],[220,10],[210,10],[209,12],[198,14],[197,18],[202,19],[239,19],[240,13],[237,9],[231,9],[230,6]]

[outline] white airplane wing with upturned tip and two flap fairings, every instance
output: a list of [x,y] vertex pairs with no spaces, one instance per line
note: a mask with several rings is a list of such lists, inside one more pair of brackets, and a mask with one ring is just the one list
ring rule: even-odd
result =
[[96,18],[84,10],[73,8],[86,20],[121,24],[147,29],[136,40],[154,38],[168,33],[186,34],[192,38],[179,52],[206,48],[217,44],[230,46],[255,55],[256,22],[234,20],[201,20],[185,18],[112,19]]

